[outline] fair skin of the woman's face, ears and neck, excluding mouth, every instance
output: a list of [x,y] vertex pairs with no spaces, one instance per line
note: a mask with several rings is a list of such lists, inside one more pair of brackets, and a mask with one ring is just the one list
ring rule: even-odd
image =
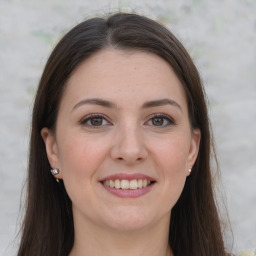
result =
[[[95,98],[113,106],[85,102]],[[162,99],[171,104],[147,104]],[[95,113],[104,117],[88,117]],[[184,89],[165,60],[138,51],[97,52],[70,77],[56,130],[41,134],[73,205],[71,256],[172,255],[171,209],[196,160],[200,131],[191,128]],[[121,198],[100,183],[119,173],[145,174],[155,184],[143,196]]]

